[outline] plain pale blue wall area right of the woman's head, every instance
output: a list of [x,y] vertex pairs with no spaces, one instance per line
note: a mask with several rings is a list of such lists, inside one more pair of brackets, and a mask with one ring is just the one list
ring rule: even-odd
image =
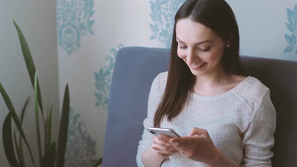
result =
[[297,1],[228,1],[237,18],[240,31],[241,55],[297,61],[295,49],[284,53],[289,46],[284,34],[286,8],[293,11]]

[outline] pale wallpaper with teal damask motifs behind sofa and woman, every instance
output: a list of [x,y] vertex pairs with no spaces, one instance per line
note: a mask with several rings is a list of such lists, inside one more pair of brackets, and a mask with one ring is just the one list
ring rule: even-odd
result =
[[[170,48],[174,16],[183,2],[57,1],[59,89],[62,93],[69,83],[72,107],[66,166],[82,166],[103,154],[117,51]],[[227,2],[237,16],[241,55],[297,61],[294,1]]]

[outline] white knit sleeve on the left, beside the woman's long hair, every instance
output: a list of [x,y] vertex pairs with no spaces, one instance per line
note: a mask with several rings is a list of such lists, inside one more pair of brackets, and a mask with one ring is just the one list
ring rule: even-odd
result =
[[154,114],[157,110],[157,107],[160,103],[160,100],[163,95],[163,83],[162,83],[162,73],[160,73],[153,81],[151,86],[150,94],[148,95],[148,103],[147,103],[147,117],[143,121],[144,130],[142,133],[142,139],[139,141],[136,162],[137,166],[144,166],[141,156],[142,153],[151,147],[153,141],[153,135],[146,130],[148,126],[153,125]]

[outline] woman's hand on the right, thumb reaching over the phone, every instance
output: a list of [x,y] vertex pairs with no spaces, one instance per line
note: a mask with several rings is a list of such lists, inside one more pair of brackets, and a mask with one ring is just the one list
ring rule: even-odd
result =
[[176,148],[185,157],[217,166],[217,164],[228,164],[234,166],[213,144],[205,129],[192,128],[188,136],[162,139],[167,144]]

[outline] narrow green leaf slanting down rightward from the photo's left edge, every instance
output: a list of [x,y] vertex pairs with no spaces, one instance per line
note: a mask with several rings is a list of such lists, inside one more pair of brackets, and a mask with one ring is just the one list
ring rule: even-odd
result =
[[23,140],[25,141],[25,144],[26,144],[26,146],[27,146],[27,148],[29,150],[30,157],[32,159],[33,165],[35,167],[35,162],[34,162],[34,159],[33,159],[32,151],[31,151],[31,148],[30,148],[29,143],[27,141],[27,138],[25,136],[25,133],[23,131],[23,128],[21,126],[21,122],[20,122],[20,120],[19,120],[19,118],[17,116],[17,113],[15,111],[15,108],[14,108],[9,96],[7,95],[5,89],[3,88],[1,82],[0,82],[0,92],[1,92],[1,94],[3,96],[3,99],[4,99],[5,103],[6,103],[7,108],[10,110],[10,114],[11,114],[13,120],[14,120],[14,123],[17,126],[17,129],[18,129],[20,135],[22,136]]

